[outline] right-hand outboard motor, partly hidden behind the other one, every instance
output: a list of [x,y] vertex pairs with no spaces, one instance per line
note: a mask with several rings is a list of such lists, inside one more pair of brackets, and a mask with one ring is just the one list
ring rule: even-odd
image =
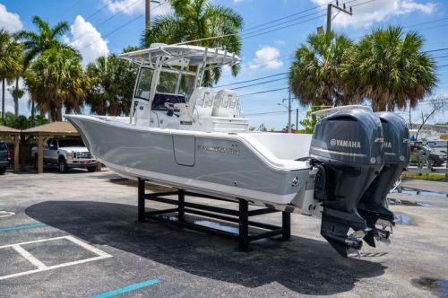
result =
[[[378,112],[375,116],[380,118],[383,126],[384,166],[358,205],[359,214],[366,219],[367,227],[371,229],[364,240],[373,247],[375,238],[378,241],[389,239],[390,232],[384,228],[394,224],[394,215],[387,208],[386,197],[409,164],[409,130],[404,119],[392,112]],[[389,224],[377,229],[375,224],[378,219]]]

